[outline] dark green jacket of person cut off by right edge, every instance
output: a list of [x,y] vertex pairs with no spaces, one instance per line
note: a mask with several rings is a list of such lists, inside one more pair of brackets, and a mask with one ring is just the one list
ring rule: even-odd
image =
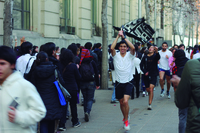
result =
[[[186,133],[200,131],[200,61],[189,60],[183,69],[181,81],[175,92],[175,103],[178,108],[188,107]],[[195,103],[198,104],[196,104]]]

